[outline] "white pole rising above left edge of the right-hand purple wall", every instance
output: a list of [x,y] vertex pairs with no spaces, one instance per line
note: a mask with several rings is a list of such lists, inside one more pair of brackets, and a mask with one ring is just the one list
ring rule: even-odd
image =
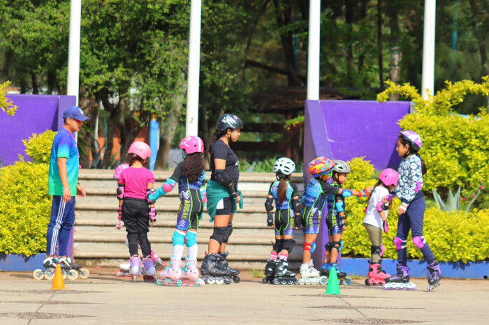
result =
[[309,0],[309,49],[307,54],[307,99],[319,100],[319,50],[321,0]]

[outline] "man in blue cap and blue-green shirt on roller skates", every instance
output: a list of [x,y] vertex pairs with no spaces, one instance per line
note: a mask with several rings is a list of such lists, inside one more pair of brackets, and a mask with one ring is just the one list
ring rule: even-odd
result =
[[[75,222],[75,196],[85,197],[85,190],[78,183],[80,153],[73,136],[89,118],[78,106],[70,106],[63,114],[64,124],[54,137],[51,148],[48,192],[52,195],[51,221],[48,226],[48,248],[43,262],[45,269],[61,263],[65,269],[79,269],[68,257],[71,227]],[[59,259],[54,256],[59,241]]]

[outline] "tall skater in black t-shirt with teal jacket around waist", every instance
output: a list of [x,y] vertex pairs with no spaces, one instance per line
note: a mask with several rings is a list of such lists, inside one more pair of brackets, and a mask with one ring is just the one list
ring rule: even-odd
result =
[[232,276],[235,281],[240,271],[228,266],[226,243],[233,232],[236,204],[241,200],[241,193],[238,191],[240,160],[229,145],[238,141],[242,127],[241,119],[233,114],[224,114],[217,123],[219,135],[210,149],[212,174],[207,185],[207,190],[210,191],[207,192],[210,193],[207,196],[207,212],[211,220],[214,218],[214,232],[210,236],[208,254],[200,269],[202,275]]

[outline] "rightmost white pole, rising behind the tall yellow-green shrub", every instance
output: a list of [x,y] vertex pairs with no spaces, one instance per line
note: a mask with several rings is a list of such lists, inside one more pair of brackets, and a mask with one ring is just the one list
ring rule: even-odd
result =
[[423,80],[421,96],[428,98],[428,91],[435,92],[435,22],[437,1],[425,0],[425,21],[423,28]]

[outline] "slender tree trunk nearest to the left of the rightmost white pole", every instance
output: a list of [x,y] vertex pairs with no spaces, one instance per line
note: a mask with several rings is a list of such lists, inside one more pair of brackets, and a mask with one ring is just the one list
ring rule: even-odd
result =
[[[391,63],[389,67],[389,78],[392,82],[396,84],[401,79],[401,61],[402,61],[402,52],[399,46],[399,18],[397,16],[397,8],[395,3],[392,1],[388,1],[387,10],[388,15],[391,17],[390,26],[391,26],[391,37],[389,38],[389,43],[391,46]],[[399,100],[399,95],[391,95],[390,100]]]

